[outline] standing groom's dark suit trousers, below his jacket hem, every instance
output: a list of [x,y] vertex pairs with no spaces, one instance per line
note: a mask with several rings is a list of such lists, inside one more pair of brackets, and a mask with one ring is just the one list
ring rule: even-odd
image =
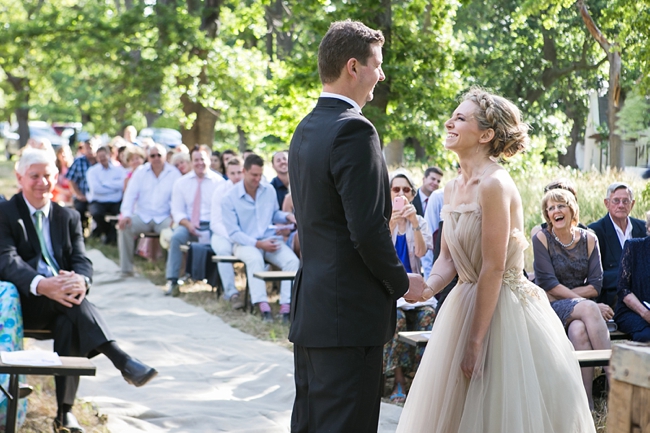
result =
[[376,433],[383,346],[295,345],[292,433]]

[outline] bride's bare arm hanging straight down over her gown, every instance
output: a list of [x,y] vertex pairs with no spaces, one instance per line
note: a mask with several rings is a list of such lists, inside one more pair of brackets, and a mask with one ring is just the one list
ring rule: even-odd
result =
[[479,185],[483,265],[478,277],[469,339],[461,363],[461,369],[468,378],[476,367],[499,298],[511,231],[510,206],[513,196],[517,194],[505,171],[495,174],[484,178]]

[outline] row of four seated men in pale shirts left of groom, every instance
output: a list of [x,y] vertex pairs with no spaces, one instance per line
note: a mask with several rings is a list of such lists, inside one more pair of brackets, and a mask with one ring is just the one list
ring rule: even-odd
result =
[[[235,254],[246,263],[252,302],[258,306],[264,320],[273,320],[265,283],[254,278],[253,273],[263,270],[264,261],[282,270],[297,270],[299,260],[284,243],[289,229],[273,228],[278,223],[295,223],[295,219],[279,210],[276,190],[261,181],[263,160],[249,155],[243,170],[239,161],[230,160],[226,172],[231,179],[225,180],[209,168],[210,150],[196,147],[191,152],[192,170],[181,176],[172,165],[164,162],[164,148],[154,146],[150,149],[150,162],[134,172],[121,206],[118,227],[122,273],[133,273],[134,236],[147,231],[160,232],[173,221],[177,227],[171,236],[165,271],[167,294],[180,292],[180,247],[189,241],[212,243],[217,254]],[[170,170],[175,174],[166,174]],[[226,200],[234,191],[239,191],[240,196]],[[226,204],[228,209],[224,207]],[[218,211],[213,211],[215,208]],[[244,303],[234,286],[232,265],[220,264],[219,272],[226,299],[233,308],[242,308]],[[284,282],[281,286],[280,311],[286,321],[290,283]]]

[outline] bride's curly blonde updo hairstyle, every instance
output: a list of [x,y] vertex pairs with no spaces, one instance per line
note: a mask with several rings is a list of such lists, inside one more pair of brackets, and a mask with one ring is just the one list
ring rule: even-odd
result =
[[463,97],[463,101],[467,100],[478,106],[474,117],[479,129],[494,131],[494,138],[488,144],[489,156],[508,158],[526,149],[528,125],[521,120],[515,104],[480,87],[472,87]]

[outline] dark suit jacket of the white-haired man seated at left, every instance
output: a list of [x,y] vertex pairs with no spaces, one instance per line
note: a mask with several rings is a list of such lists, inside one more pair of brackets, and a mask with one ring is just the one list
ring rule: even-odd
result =
[[[51,203],[50,237],[54,259],[66,271],[92,278],[86,257],[79,213]],[[21,193],[0,203],[0,280],[12,282],[23,299],[33,296],[29,285],[38,272],[41,246],[29,208]]]

